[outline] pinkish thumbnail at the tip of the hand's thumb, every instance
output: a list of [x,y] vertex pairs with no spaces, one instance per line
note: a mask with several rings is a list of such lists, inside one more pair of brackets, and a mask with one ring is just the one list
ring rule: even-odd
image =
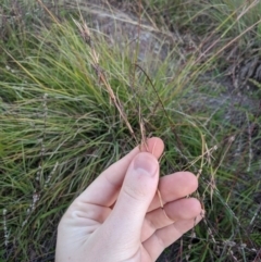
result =
[[134,170],[148,176],[156,175],[158,165],[158,161],[150,153],[139,153],[134,159]]

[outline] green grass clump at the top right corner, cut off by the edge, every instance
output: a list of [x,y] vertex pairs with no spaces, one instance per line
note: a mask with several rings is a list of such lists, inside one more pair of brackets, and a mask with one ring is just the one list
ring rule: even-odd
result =
[[[260,21],[258,0],[211,0],[211,1],[158,1],[144,0],[144,8],[151,16],[162,17],[166,26],[206,34],[213,29],[231,37]],[[146,11],[146,10],[145,10]],[[253,32],[252,32],[253,33]],[[246,36],[247,38],[247,36]],[[244,39],[244,38],[243,38]]]

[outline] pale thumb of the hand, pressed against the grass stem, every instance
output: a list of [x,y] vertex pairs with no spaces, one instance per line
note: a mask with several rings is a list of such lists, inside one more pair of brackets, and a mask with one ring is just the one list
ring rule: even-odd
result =
[[[147,210],[159,182],[158,160],[148,152],[138,153],[127,170],[117,201],[107,221],[119,238],[139,240]],[[119,239],[120,240],[120,239]]]

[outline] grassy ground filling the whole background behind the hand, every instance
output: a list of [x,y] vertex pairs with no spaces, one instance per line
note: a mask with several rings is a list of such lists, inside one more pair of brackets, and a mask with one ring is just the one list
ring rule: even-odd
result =
[[159,261],[261,261],[261,3],[195,2],[0,0],[0,261],[53,261],[69,204],[144,136],[207,211]]

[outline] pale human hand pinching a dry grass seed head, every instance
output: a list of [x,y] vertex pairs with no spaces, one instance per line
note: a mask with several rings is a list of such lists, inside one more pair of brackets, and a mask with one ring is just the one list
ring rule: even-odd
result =
[[197,189],[196,176],[177,172],[159,179],[164,145],[156,137],[147,144],[102,172],[70,205],[58,228],[57,262],[152,262],[201,220],[200,202],[185,198]]

